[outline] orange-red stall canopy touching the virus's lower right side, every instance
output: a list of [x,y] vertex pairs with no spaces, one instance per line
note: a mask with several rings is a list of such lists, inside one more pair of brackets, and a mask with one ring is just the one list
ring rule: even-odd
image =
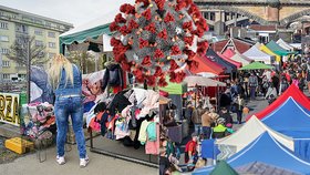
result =
[[[196,54],[193,60],[198,62],[198,68],[196,70],[192,71],[192,73],[211,72],[211,73],[219,75],[225,70],[225,68],[223,65],[210,61],[206,56],[199,56],[198,54]],[[188,66],[187,66],[187,69],[188,69]]]

